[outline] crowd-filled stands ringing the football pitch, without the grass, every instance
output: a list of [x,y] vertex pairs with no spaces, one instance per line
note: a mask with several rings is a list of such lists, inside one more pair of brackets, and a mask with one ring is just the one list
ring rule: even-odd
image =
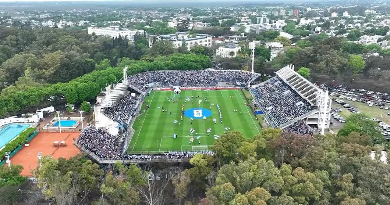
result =
[[[313,87],[307,89],[302,87],[307,85],[301,84],[301,87],[298,85],[297,89],[297,87],[293,86],[293,82],[289,82],[286,79],[296,80],[295,77],[299,78],[301,76],[293,71],[291,66],[286,66],[283,69],[282,73],[277,73],[277,76],[250,88],[250,92],[254,96],[253,102],[256,104],[255,107],[259,107],[259,109],[264,112],[266,122],[270,127],[282,128],[284,131],[297,134],[313,134],[314,130],[307,124],[321,127],[320,118],[324,118],[324,116],[326,118],[327,112],[324,112],[322,109],[323,114],[321,114],[320,107],[325,107],[325,109],[330,107],[330,104],[327,103],[328,99],[322,99],[322,101],[319,99],[321,96],[324,96],[325,92],[314,88],[315,96],[313,98]],[[106,92],[100,96],[100,100],[97,99],[97,105],[95,105],[96,127],[90,125],[85,128],[78,137],[77,144],[99,158],[190,158],[196,152],[168,152],[157,155],[125,155],[124,152],[122,152],[123,146],[126,146],[123,142],[125,141],[126,143],[126,140],[123,140],[122,135],[118,134],[118,132],[110,132],[106,128],[129,124],[135,111],[140,107],[140,102],[144,99],[144,94],[130,94],[128,87],[133,87],[133,90],[135,87],[141,92],[146,92],[153,86],[212,87],[220,86],[221,82],[227,82],[230,86],[236,86],[236,83],[240,82],[240,85],[249,87],[250,83],[259,76],[258,73],[250,73],[247,71],[212,69],[147,71],[129,77],[124,75],[124,79],[127,80],[115,85],[113,88],[106,88],[115,90],[119,87],[120,89],[117,89],[117,93],[119,94],[114,95]],[[302,79],[299,78],[294,82],[301,83]],[[304,82],[307,83],[308,81],[306,80]],[[155,84],[151,85],[153,83]],[[309,84],[309,86],[312,86],[312,84]],[[301,93],[299,89],[309,92]],[[307,93],[309,93],[310,96],[305,96]],[[108,103],[107,98],[110,98],[112,102]],[[325,105],[320,104],[324,101]],[[101,116],[99,117],[100,114]],[[110,119],[112,122],[102,123],[103,118]],[[327,119],[322,120],[326,121]],[[212,152],[205,153],[212,154]]]

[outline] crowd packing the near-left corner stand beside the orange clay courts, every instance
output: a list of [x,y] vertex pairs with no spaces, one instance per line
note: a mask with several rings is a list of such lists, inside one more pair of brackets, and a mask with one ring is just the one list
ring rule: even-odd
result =
[[117,151],[121,146],[121,139],[118,135],[112,135],[103,128],[86,127],[80,134],[77,143],[100,158],[120,157]]

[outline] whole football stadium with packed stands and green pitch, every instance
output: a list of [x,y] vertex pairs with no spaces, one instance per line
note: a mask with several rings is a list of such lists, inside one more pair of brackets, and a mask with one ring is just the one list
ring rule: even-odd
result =
[[[213,154],[223,134],[254,137],[273,127],[324,134],[331,99],[289,65],[261,82],[242,70],[163,70],[127,76],[96,98],[95,123],[76,146],[98,162],[185,161]],[[244,90],[249,91],[245,94]]]

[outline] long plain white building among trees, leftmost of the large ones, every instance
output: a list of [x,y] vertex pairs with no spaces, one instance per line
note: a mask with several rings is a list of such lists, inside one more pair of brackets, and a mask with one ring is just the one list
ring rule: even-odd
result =
[[111,36],[111,37],[126,37],[131,42],[134,41],[135,34],[144,34],[144,30],[128,30],[123,29],[119,30],[119,26],[110,26],[110,27],[104,27],[104,28],[97,28],[97,27],[88,27],[88,34],[92,35],[92,33],[95,33],[97,36],[103,35],[103,36]]

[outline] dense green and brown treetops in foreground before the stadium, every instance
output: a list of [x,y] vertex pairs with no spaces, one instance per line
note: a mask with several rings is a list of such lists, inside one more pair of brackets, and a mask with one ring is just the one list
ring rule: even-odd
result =
[[[380,134],[379,134],[380,135]],[[263,129],[260,135],[231,131],[216,140],[214,155],[189,164],[119,163],[105,166],[78,155],[43,157],[33,169],[43,196],[31,205],[378,205],[390,203],[390,165],[380,154],[375,122],[349,116],[337,135],[299,135]],[[379,144],[378,144],[379,143]],[[0,168],[0,201],[20,201],[26,178],[20,166]],[[150,173],[161,178],[149,180]]]

